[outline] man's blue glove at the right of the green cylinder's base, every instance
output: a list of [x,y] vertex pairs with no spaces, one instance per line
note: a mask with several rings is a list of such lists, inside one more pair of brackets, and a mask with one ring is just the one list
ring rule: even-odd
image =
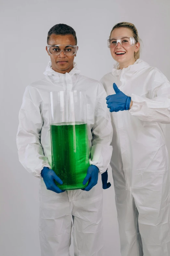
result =
[[82,190],[89,191],[97,184],[99,176],[99,168],[95,165],[89,166],[87,169],[87,175],[83,180],[83,185],[85,185],[88,182],[88,185],[86,188],[83,188]]

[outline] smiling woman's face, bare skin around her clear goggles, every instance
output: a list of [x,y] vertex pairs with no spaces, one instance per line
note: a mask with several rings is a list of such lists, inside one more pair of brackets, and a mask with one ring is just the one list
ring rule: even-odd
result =
[[[112,33],[111,33],[111,39],[115,37],[133,37],[133,32],[131,29],[127,27],[120,27],[120,28],[115,28]],[[120,43],[117,44],[115,48],[110,48],[111,55],[114,60],[119,62],[120,64],[123,63],[130,63],[130,62],[135,62],[135,57],[134,53],[138,51],[139,49],[139,43],[136,43],[133,46],[121,46]],[[122,55],[118,55],[122,53]],[[130,63],[130,64],[133,64]]]

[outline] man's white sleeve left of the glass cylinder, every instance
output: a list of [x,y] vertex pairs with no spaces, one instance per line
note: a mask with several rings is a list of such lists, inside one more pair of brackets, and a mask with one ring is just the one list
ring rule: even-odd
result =
[[38,178],[41,178],[41,170],[44,166],[50,168],[40,143],[42,126],[40,106],[33,102],[29,87],[27,87],[19,112],[17,148],[21,164],[28,172]]

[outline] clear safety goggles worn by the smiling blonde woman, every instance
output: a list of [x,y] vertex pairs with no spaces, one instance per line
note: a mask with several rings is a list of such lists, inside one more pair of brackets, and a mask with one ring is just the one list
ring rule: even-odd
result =
[[123,36],[123,37],[109,38],[107,40],[107,46],[109,48],[115,48],[118,45],[118,43],[120,43],[120,45],[123,47],[133,46],[135,45],[135,38]]

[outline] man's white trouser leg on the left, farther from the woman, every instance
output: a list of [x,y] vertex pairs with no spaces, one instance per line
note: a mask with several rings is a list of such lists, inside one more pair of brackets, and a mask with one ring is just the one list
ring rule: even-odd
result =
[[67,191],[57,194],[40,183],[41,256],[70,256],[72,215]]

